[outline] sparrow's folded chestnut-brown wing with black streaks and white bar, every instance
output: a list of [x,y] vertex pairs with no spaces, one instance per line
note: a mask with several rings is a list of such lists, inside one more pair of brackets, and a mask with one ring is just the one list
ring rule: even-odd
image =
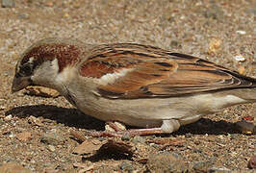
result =
[[255,86],[255,79],[213,62],[140,44],[95,47],[80,74],[95,78],[97,94],[107,98],[171,97]]

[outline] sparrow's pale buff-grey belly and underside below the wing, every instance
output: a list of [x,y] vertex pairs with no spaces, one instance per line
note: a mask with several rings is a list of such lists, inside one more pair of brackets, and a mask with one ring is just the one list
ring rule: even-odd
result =
[[[79,110],[97,119],[138,127],[160,127],[166,119],[177,119],[181,125],[190,124],[205,114],[219,111],[228,103],[212,94],[149,99],[107,99],[88,95],[74,96],[71,100]],[[234,98],[230,100],[234,101]]]

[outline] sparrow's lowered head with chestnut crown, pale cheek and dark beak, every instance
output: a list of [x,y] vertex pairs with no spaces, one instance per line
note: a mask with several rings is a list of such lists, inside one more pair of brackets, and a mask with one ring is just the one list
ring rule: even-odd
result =
[[26,86],[57,89],[56,78],[65,67],[78,62],[81,51],[75,41],[45,38],[29,47],[16,63],[12,92]]

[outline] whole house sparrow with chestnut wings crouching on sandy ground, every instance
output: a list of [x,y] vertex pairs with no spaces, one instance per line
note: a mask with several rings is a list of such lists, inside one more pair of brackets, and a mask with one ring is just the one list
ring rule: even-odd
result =
[[26,86],[57,89],[115,130],[94,136],[170,134],[203,115],[256,102],[256,79],[213,62],[149,45],[70,38],[39,40],[21,55],[12,90]]

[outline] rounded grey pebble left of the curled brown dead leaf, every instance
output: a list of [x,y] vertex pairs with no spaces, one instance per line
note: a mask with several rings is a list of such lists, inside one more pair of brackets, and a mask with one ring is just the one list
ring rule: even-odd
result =
[[57,146],[64,143],[64,137],[58,135],[57,133],[49,133],[42,136],[40,138],[40,142]]

